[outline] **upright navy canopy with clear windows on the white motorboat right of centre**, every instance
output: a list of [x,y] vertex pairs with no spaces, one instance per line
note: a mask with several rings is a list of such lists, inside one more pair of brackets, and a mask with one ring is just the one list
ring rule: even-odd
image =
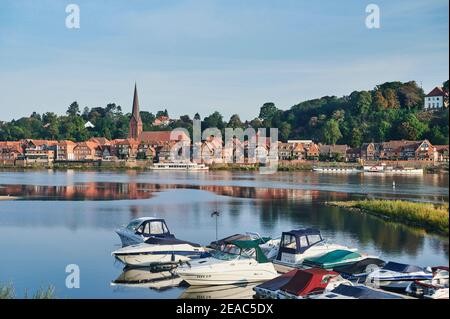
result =
[[320,242],[323,242],[323,238],[318,229],[303,228],[283,232],[277,259],[281,260],[282,253],[303,254],[308,248]]

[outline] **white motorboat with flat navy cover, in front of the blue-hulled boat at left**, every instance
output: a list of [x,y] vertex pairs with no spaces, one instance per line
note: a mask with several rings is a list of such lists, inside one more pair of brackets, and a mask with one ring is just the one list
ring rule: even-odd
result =
[[205,255],[205,249],[175,237],[150,237],[144,243],[120,248],[112,255],[128,266],[152,267],[200,258]]

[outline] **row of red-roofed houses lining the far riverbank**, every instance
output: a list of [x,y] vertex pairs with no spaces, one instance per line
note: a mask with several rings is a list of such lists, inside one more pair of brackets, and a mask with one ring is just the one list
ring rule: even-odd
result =
[[[248,141],[232,139],[224,143],[211,137],[192,148],[192,160],[199,163],[248,163],[250,159],[270,158],[270,143],[265,141],[249,147]],[[383,160],[416,160],[448,162],[449,146],[432,145],[423,141],[388,141],[383,143],[364,143],[361,147],[347,145],[316,144],[311,140],[291,140],[278,142],[278,160],[320,160],[358,162]],[[176,146],[174,148],[174,146]],[[181,146],[192,147],[189,137],[184,133],[173,137],[171,132],[143,132],[139,139],[108,140],[93,137],[87,141],[33,140],[0,142],[0,164],[14,165],[17,160],[26,163],[51,163],[54,161],[113,161],[129,159],[148,159],[159,162],[173,160],[173,150]],[[200,152],[200,154],[195,154]],[[178,155],[181,155],[179,153]]]

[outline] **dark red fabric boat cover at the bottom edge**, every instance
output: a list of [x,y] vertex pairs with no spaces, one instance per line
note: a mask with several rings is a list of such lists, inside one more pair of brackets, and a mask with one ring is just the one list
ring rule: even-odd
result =
[[295,271],[294,276],[280,290],[296,296],[320,292],[327,287],[331,278],[339,276],[337,272],[318,268]]

